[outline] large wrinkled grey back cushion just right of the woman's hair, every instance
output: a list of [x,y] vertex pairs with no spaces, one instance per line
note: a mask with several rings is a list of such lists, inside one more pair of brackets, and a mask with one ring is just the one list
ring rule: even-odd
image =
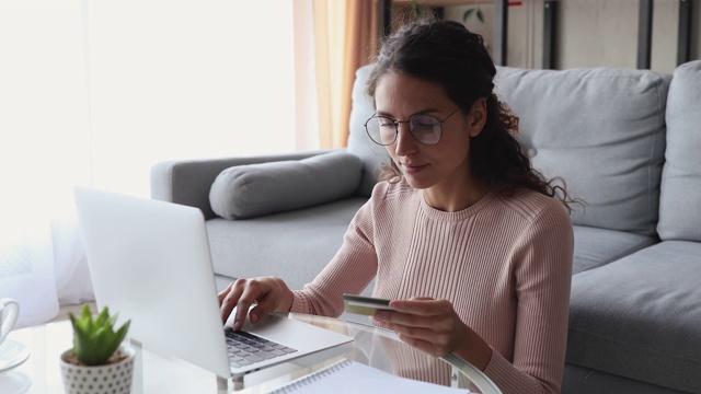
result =
[[562,176],[574,224],[653,235],[671,76],[650,70],[499,67],[497,94],[520,118],[533,165]]

